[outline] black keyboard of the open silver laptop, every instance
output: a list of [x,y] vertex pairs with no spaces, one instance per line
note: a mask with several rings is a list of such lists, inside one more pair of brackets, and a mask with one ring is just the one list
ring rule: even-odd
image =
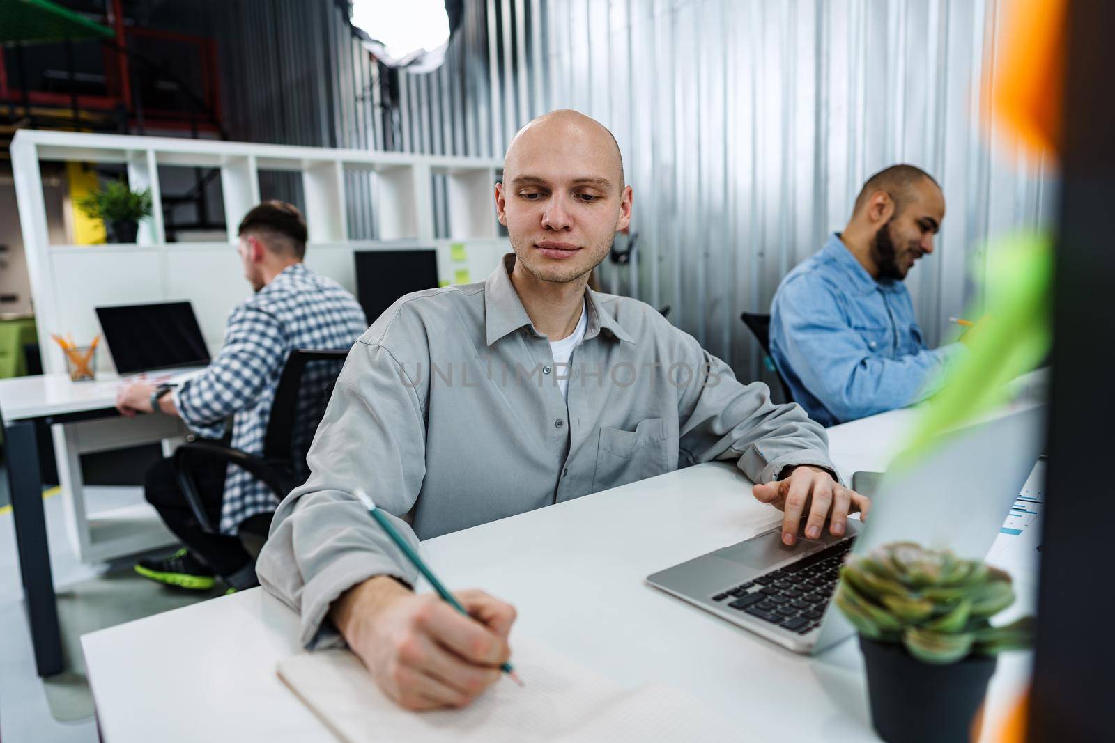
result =
[[737,612],[805,635],[821,624],[855,537],[712,597]]

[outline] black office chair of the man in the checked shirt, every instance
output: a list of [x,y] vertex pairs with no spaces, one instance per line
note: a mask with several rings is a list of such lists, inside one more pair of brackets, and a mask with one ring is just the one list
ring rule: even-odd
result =
[[[306,482],[309,468],[306,454],[318,430],[326,405],[333,393],[348,351],[298,349],[291,351],[271,403],[271,416],[263,437],[263,454],[250,454],[216,442],[184,443],[174,452],[173,466],[186,502],[202,529],[217,532],[205,510],[194,481],[193,467],[202,459],[217,459],[248,470],[275,495],[275,506],[291,490]],[[271,515],[249,519],[241,526],[252,536],[266,537]],[[259,534],[259,532],[262,532]]]

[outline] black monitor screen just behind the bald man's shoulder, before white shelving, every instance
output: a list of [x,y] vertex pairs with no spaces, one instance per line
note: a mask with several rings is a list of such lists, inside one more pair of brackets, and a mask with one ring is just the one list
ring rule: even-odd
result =
[[410,292],[437,287],[437,251],[357,251],[356,294],[368,324]]

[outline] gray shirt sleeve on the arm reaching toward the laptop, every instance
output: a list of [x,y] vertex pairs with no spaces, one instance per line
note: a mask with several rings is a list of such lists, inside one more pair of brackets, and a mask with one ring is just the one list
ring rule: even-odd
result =
[[[685,334],[682,334],[685,335]],[[741,384],[731,369],[685,335],[679,354],[699,370],[680,389],[678,420],[686,463],[736,460],[754,482],[778,479],[787,467],[814,465],[837,477],[824,428],[801,405],[775,404],[762,382]]]

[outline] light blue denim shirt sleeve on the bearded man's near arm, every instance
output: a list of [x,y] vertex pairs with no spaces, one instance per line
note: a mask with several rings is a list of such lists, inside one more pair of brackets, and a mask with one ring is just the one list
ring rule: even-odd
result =
[[[889,359],[874,353],[843,316],[828,285],[803,275],[776,300],[779,353],[802,384],[836,418],[855,420],[903,408],[939,389],[967,351],[960,343]],[[772,327],[772,335],[776,332]]]

